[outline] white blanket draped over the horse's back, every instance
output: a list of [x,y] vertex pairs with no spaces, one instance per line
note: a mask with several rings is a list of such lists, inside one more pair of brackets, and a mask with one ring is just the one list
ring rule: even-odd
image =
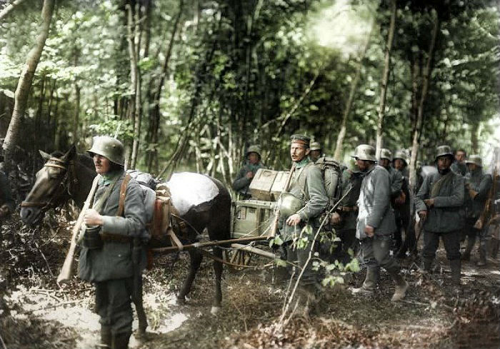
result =
[[191,207],[213,200],[219,188],[207,176],[193,172],[174,173],[168,181],[172,204],[184,215]]

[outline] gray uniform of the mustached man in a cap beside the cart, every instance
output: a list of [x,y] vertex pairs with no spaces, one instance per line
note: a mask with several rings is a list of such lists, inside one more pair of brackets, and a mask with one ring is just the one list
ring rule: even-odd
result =
[[[323,177],[321,170],[314,166],[309,157],[304,158],[299,163],[296,163],[293,178],[291,180],[289,193],[293,194],[304,202],[304,206],[296,213],[301,217],[301,223],[298,226],[288,226],[286,218],[281,219],[281,238],[285,242],[286,259],[291,263],[299,263],[302,267],[305,265],[309,257],[312,238],[316,234],[316,229],[319,228],[319,216],[328,206],[328,196],[324,188]],[[293,248],[291,245],[294,237],[299,236],[304,226],[308,224],[313,228],[313,234],[309,236],[309,243],[304,248]],[[301,278],[303,285],[314,283],[315,277],[311,270],[312,263],[304,271]]]

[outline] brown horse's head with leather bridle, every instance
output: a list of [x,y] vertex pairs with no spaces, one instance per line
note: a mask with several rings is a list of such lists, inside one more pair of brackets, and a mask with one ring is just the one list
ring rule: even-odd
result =
[[44,151],[40,151],[40,154],[46,163],[36,173],[34,186],[21,203],[21,220],[29,226],[39,223],[49,208],[56,208],[66,202],[78,186],[75,146],[65,154],[48,154]]

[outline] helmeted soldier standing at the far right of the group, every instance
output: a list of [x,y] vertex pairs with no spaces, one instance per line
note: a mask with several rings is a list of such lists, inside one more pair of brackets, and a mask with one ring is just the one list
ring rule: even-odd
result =
[[476,243],[476,236],[479,236],[479,261],[478,266],[486,265],[486,233],[488,231],[486,222],[481,226],[476,226],[481,213],[484,211],[484,204],[488,198],[492,184],[491,176],[483,172],[483,161],[479,155],[471,155],[465,162],[469,170],[465,176],[469,197],[466,196],[466,221],[465,234],[467,247],[462,255],[462,261],[469,261],[471,251]]

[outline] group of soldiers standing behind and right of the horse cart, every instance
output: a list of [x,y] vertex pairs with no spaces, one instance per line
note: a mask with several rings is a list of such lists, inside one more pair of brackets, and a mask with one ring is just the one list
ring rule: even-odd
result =
[[[347,263],[351,258],[348,251],[353,249],[358,251],[357,258],[366,266],[364,283],[353,293],[372,295],[383,267],[396,283],[392,300],[404,298],[409,284],[400,273],[398,259],[406,257],[408,252],[416,253],[416,228],[423,231],[424,236],[421,272],[433,270],[439,240],[444,243],[454,288],[459,288],[461,261],[471,258],[476,237],[480,241],[477,265],[486,265],[488,231],[497,223],[494,218],[486,219],[491,224],[484,221],[493,180],[483,171],[481,157],[466,158],[463,150],[452,153],[449,146],[437,147],[436,170],[421,178],[411,200],[405,151],[396,151],[392,156],[389,149],[382,148],[376,156],[373,146],[361,144],[351,156],[354,158],[352,166],[339,164],[343,198],[332,211],[324,178],[319,167],[314,166],[324,156],[319,143],[301,134],[293,135],[290,156],[293,173],[291,184],[284,191],[287,199],[278,203],[279,234],[284,241],[286,261],[304,269],[300,285],[308,301],[316,299],[319,292],[319,275],[311,270],[309,251],[321,251],[321,246],[314,240],[314,233],[306,236],[304,244],[304,228],[310,226],[309,231],[315,232],[326,211],[329,212],[327,229],[333,228],[341,240],[336,243],[333,258]],[[258,146],[250,146],[246,158],[247,163],[233,183],[234,190],[242,198],[251,197],[251,179],[257,169],[264,167]],[[290,194],[296,198],[293,204],[288,199]],[[460,253],[460,243],[465,240],[465,251]],[[498,253],[498,240],[495,242],[491,244],[496,251],[493,256]],[[292,275],[297,274],[295,271],[289,268]]]

